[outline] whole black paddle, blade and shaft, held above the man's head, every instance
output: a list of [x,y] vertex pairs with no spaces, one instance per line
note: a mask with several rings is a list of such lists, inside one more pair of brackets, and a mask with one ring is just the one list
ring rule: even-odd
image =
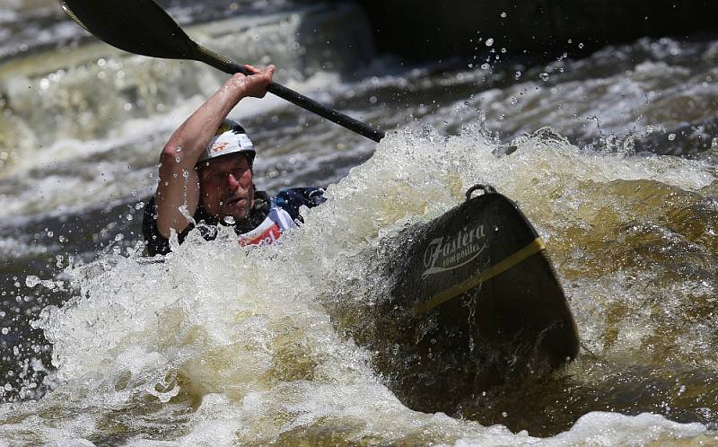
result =
[[[113,47],[143,56],[196,60],[228,74],[250,74],[243,66],[189,39],[180,25],[153,0],[59,1],[75,22]],[[384,137],[381,130],[329,109],[279,83],[270,83],[267,92],[376,142]]]

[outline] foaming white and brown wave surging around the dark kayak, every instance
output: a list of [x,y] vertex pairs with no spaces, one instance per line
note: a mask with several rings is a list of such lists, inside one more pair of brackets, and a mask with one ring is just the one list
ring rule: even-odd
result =
[[[392,134],[371,160],[328,188],[327,203],[304,210],[306,223],[282,244],[241,248],[222,228],[211,242],[190,234],[166,258],[108,254],[70,267],[78,294],[47,308],[39,321],[54,346],[57,371],[48,379],[54,390],[37,403],[0,407],[0,437],[137,445],[205,444],[209,434],[221,445],[711,439],[704,425],[662,416],[583,415],[600,409],[585,405],[593,390],[607,407],[618,407],[610,390],[629,373],[631,383],[653,377],[661,386],[674,378],[666,365],[691,362],[682,394],[659,394],[679,407],[687,405],[680,396],[714,373],[710,355],[695,363],[698,350],[716,347],[714,323],[705,320],[718,251],[710,237],[714,168],[669,156],[592,152],[548,129],[513,145],[511,155],[496,156],[495,143],[476,129],[451,137],[431,128]],[[578,420],[554,438],[521,431],[544,433],[521,418],[530,414],[525,397],[536,393],[530,388],[521,391],[520,404],[507,399],[510,390],[468,396],[477,413],[468,406],[464,414],[483,425],[411,411],[373,373],[372,353],[337,330],[351,324],[356,303],[381,301],[381,279],[370,274],[381,264],[382,241],[455,206],[477,182],[518,201],[572,294],[582,361],[535,396],[541,408],[554,399],[575,404],[569,412],[562,407],[568,420],[549,423],[548,433],[556,434]],[[693,262],[676,268],[681,256]],[[696,322],[696,312],[705,324]],[[626,369],[635,362],[648,371]],[[495,410],[486,408],[492,404]],[[637,414],[652,405],[648,399],[625,410]]]

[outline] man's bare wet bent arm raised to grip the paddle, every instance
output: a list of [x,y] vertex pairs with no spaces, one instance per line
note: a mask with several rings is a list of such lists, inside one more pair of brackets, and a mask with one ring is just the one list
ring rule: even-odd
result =
[[199,204],[195,165],[223,119],[242,98],[263,97],[272,82],[274,66],[260,71],[247,66],[250,76],[235,74],[175,130],[160,155],[160,182],[154,195],[157,229],[165,238],[182,232]]

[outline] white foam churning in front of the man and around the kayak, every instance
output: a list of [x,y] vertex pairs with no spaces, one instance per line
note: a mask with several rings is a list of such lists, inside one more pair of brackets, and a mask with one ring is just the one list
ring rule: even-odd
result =
[[[39,403],[0,407],[0,438],[101,439],[109,415],[126,421],[129,445],[322,443],[327,433],[349,443],[455,445],[713,436],[703,425],[662,416],[590,413],[541,440],[502,425],[417,413],[372,372],[370,353],[337,333],[330,315],[355,309],[347,303],[381,299],[372,295],[370,276],[381,235],[440,215],[479,181],[518,200],[560,256],[558,229],[570,219],[588,222],[571,217],[575,204],[600,197],[585,182],[650,179],[696,189],[715,180],[701,162],[591,153],[550,133],[517,145],[516,153],[496,157],[496,145],[477,130],[451,138],[429,129],[392,134],[371,160],[328,188],[327,203],[304,210],[306,223],[282,244],[243,249],[231,231],[212,242],[193,233],[163,262],[106,255],[68,269],[81,294],[46,309],[39,323],[54,346],[55,390]],[[582,197],[562,198],[569,193]],[[547,197],[554,197],[548,206]],[[582,311],[583,300],[607,299],[581,297],[574,306]],[[601,337],[594,329],[588,337]],[[7,424],[11,417],[17,422]],[[162,426],[176,431],[160,435]]]

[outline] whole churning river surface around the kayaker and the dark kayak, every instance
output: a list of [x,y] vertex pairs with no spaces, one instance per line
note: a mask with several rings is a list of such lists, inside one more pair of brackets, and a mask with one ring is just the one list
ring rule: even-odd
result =
[[[161,3],[388,135],[242,101],[258,187],[328,202],[275,246],[147,259],[159,152],[225,76],[2,0],[0,445],[718,445],[718,38],[532,63],[479,35],[476,64],[409,66],[352,4]],[[480,182],[546,241],[581,355],[419,413],[347,327],[384,298],[385,241]]]

